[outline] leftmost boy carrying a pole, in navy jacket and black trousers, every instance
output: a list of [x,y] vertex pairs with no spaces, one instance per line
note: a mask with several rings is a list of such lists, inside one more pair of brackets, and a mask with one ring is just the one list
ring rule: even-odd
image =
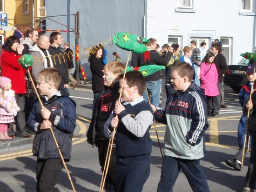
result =
[[36,132],[33,155],[37,156],[37,192],[53,191],[62,169],[61,156],[50,127],[65,161],[71,158],[76,121],[75,102],[67,96],[61,96],[58,91],[60,84],[61,75],[58,69],[49,67],[38,73],[37,88],[43,96],[41,100],[44,107],[42,109],[37,101],[27,120],[27,125]]

